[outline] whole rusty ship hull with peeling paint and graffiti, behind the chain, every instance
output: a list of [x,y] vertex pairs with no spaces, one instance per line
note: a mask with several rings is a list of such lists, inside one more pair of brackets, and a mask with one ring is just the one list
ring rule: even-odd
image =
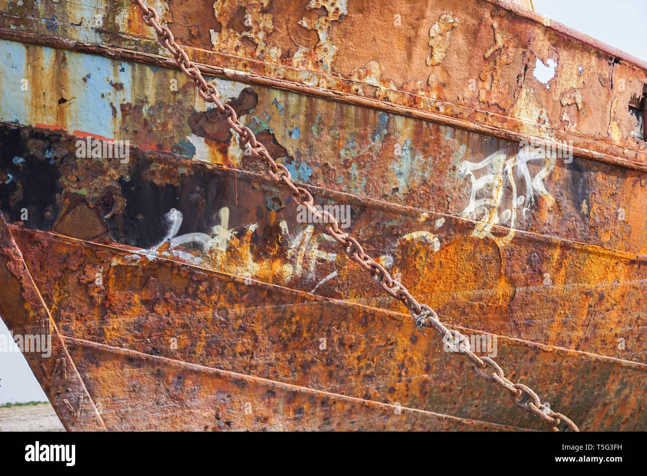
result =
[[[507,377],[582,430],[647,429],[644,62],[503,1],[151,6]],[[52,336],[25,357],[65,427],[544,429],[367,284],[153,38],[127,0],[0,3],[0,315]]]

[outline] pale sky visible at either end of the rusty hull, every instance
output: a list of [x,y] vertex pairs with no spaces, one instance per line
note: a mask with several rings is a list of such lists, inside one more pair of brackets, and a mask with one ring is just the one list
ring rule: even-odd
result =
[[[647,41],[641,36],[647,21],[647,0],[533,2],[538,13],[647,61]],[[1,319],[0,334],[9,337]],[[0,405],[32,400],[45,401],[47,397],[25,357],[20,352],[0,352]]]

